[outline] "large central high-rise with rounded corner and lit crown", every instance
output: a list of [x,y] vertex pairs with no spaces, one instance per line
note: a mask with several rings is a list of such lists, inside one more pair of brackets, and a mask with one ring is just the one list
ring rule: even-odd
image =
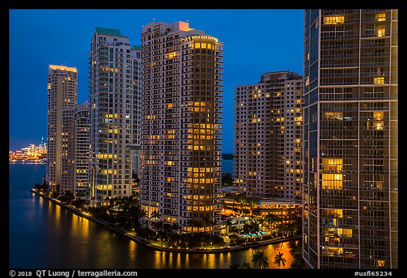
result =
[[223,43],[181,21],[141,41],[141,224],[219,234]]

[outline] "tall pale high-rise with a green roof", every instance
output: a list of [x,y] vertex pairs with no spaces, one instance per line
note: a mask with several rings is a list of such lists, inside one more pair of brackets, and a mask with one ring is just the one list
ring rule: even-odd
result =
[[[91,199],[131,195],[134,159],[134,103],[139,87],[129,37],[119,30],[95,28],[89,56]],[[138,80],[137,80],[138,82]]]

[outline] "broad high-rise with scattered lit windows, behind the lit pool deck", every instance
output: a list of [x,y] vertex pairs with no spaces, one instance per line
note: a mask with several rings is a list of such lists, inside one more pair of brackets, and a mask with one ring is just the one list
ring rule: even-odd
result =
[[302,76],[274,71],[235,91],[235,185],[249,197],[301,202]]

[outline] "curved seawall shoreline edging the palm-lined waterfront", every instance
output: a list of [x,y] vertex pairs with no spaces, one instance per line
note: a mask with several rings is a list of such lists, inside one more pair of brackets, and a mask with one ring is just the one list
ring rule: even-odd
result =
[[78,216],[81,216],[85,219],[88,219],[90,221],[95,221],[98,224],[101,224],[102,226],[105,226],[106,228],[110,228],[110,230],[114,231],[115,233],[119,233],[122,236],[125,236],[131,241],[135,241],[136,243],[140,243],[148,248],[152,248],[154,250],[158,251],[165,251],[165,252],[174,252],[174,253],[201,253],[201,254],[213,254],[213,253],[230,253],[233,251],[241,251],[241,250],[248,250],[250,248],[257,248],[261,247],[264,245],[270,245],[270,244],[276,244],[276,243],[282,243],[285,241],[295,241],[301,238],[301,236],[296,236],[293,238],[272,238],[266,241],[260,241],[260,242],[252,242],[247,245],[240,245],[240,246],[235,246],[235,247],[230,247],[228,245],[228,248],[213,248],[213,249],[206,249],[206,250],[201,250],[201,249],[184,249],[184,248],[165,248],[161,247],[158,245],[154,245],[153,243],[149,243],[148,241],[144,241],[143,238],[138,238],[134,236],[131,233],[128,233],[124,231],[122,228],[118,228],[117,226],[114,226],[114,224],[110,224],[106,221],[102,221],[100,219],[96,219],[92,216],[89,216],[88,214],[85,214],[84,212],[81,212],[80,210],[69,206],[68,204],[64,204],[62,202],[59,202],[56,199],[52,199],[51,197],[48,197],[47,195],[44,195],[42,192],[38,192],[37,190],[31,189],[30,192],[33,192],[35,195],[38,195],[40,197],[43,197],[45,199],[48,199],[50,202],[53,202],[54,204],[59,205],[60,207],[63,207],[64,209],[69,209],[73,214],[76,214]]

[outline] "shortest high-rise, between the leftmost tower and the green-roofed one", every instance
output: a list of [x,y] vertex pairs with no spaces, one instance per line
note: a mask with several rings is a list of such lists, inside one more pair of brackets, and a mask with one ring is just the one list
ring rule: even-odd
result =
[[62,110],[61,185],[59,192],[88,198],[90,192],[89,104]]

